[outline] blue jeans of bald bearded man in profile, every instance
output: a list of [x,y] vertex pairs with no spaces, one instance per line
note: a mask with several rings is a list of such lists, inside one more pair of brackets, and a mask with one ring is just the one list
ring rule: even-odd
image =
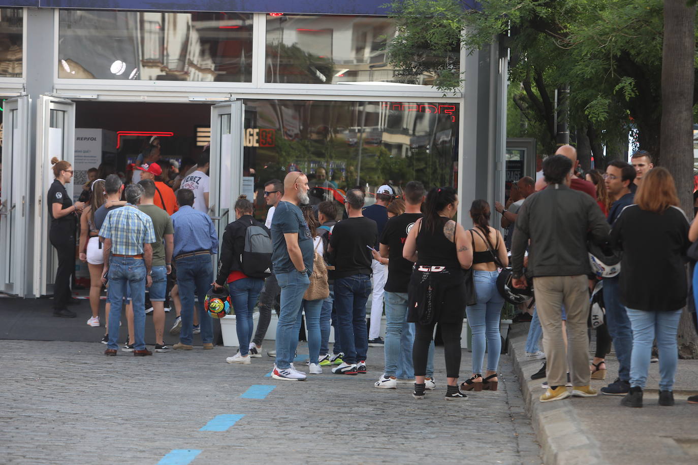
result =
[[276,325],[276,367],[288,369],[298,346],[296,322],[310,278],[306,273],[290,270],[288,273],[276,273],[276,282],[281,288],[281,310]]

